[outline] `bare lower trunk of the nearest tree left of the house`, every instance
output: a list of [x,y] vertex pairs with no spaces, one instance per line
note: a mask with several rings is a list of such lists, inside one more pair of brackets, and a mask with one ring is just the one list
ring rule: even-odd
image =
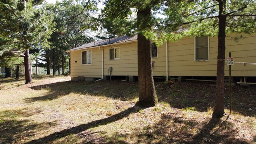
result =
[[24,53],[24,66],[25,66],[25,84],[30,84],[32,82],[31,77],[31,68],[30,68],[30,60],[29,60],[29,50],[27,49]]

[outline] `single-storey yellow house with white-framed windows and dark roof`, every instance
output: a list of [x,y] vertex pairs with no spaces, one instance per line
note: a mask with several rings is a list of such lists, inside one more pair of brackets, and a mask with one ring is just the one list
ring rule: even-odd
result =
[[[256,34],[245,34],[238,42],[236,34],[226,37],[226,57],[234,58],[232,77],[256,77]],[[218,37],[187,37],[161,46],[152,43],[153,75],[185,76],[188,79],[216,80]],[[121,36],[84,44],[68,50],[71,56],[72,80],[97,80],[112,76],[138,76],[137,35]],[[110,68],[112,67],[112,68]],[[112,71],[112,72],[110,72]],[[225,65],[225,76],[229,76]]]

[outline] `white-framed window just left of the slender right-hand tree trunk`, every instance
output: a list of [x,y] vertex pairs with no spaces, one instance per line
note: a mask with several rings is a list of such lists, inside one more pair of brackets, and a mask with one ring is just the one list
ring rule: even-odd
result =
[[208,36],[195,37],[195,60],[209,60]]

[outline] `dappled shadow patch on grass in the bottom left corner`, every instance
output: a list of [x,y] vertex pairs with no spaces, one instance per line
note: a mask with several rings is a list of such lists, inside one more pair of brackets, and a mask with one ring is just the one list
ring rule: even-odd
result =
[[0,143],[20,143],[36,136],[36,132],[55,125],[55,122],[36,123],[31,120],[18,120],[18,117],[29,117],[34,113],[26,109],[0,112]]

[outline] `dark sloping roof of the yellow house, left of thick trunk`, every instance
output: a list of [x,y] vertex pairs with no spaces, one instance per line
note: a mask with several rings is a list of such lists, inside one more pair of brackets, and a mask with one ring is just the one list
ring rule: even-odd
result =
[[95,46],[103,46],[103,45],[115,44],[115,43],[119,43],[119,42],[127,42],[127,41],[131,41],[131,40],[137,40],[137,34],[132,36],[132,37],[120,36],[120,37],[116,37],[116,38],[110,38],[110,39],[106,39],[106,40],[99,40],[99,41],[96,41],[96,42],[90,42],[88,44],[83,44],[82,46],[72,48],[72,49],[68,50],[67,52],[71,52],[73,50],[79,50],[79,49],[83,49],[83,48],[92,48],[92,47],[95,47]]

